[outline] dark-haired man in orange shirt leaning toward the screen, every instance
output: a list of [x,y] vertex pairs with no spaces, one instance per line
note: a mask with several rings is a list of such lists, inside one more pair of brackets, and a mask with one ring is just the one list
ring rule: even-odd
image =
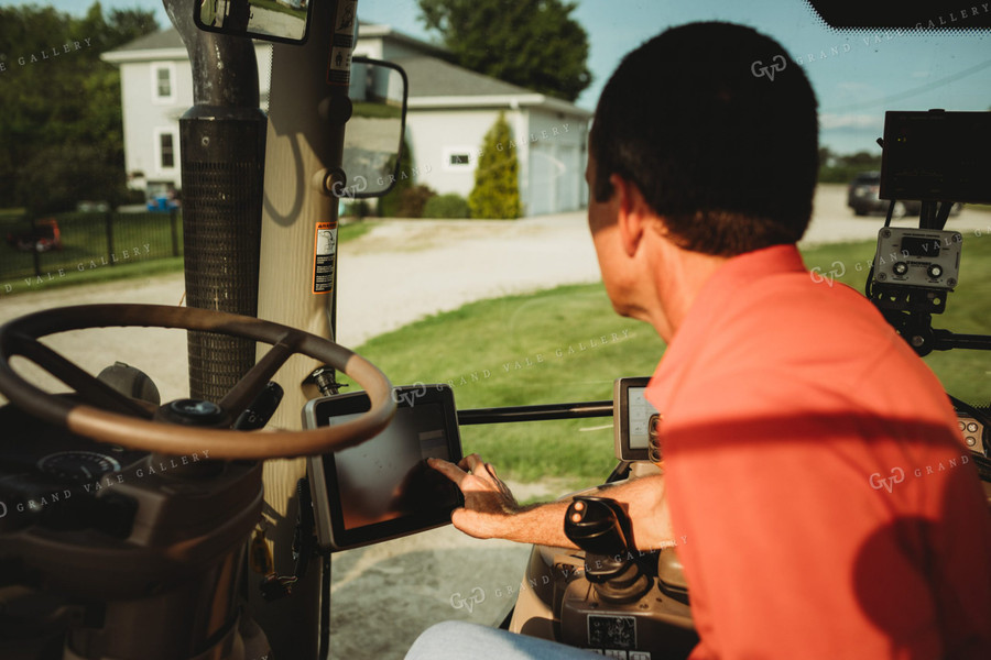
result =
[[[753,73],[772,61],[773,79]],[[669,30],[603,90],[587,170],[602,280],[668,342],[646,394],[665,473],[605,496],[638,548],[684,537],[695,659],[984,658],[991,516],[954,410],[873,306],[814,280],[795,248],[816,133],[799,67],[741,26]],[[465,493],[459,529],[570,546],[567,503],[516,506],[477,455],[434,466]],[[489,634],[451,638],[465,630],[442,624],[411,657],[486,657]]]

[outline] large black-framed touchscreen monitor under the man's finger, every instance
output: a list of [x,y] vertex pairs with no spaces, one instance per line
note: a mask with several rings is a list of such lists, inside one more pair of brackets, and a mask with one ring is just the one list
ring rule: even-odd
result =
[[[461,460],[450,387],[396,387],[393,398],[395,417],[381,433],[309,459],[323,548],[344,550],[438,527],[462,504],[458,487],[426,464],[428,458]],[[368,409],[361,392],[318,398],[304,408],[304,422],[307,428],[342,424]]]

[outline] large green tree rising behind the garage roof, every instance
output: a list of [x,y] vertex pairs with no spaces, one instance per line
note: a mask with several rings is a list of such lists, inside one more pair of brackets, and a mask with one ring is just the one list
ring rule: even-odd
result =
[[465,68],[574,101],[591,82],[588,34],[563,0],[420,0],[421,20]]

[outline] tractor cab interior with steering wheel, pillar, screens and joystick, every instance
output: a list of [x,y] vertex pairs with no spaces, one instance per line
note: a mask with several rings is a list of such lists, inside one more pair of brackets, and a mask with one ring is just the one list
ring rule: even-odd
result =
[[[601,418],[616,454],[603,482],[662,469],[646,374],[603,374],[611,400],[458,409],[444,383],[392,383],[335,342],[339,208],[395,184],[407,128],[402,67],[353,56],[360,2],[165,6],[195,87],[179,120],[186,306],[64,307],[0,327],[0,657],[325,658],[335,553],[448,524],[462,496],[426,460],[460,460],[468,426]],[[880,6],[819,20],[828,34],[933,30],[929,6]],[[987,37],[991,12],[971,18]],[[251,38],[273,42],[266,116]],[[771,85],[763,64],[753,75]],[[865,273],[919,354],[991,348],[933,327],[967,258],[950,208],[991,204],[991,113],[946,106],[886,113],[887,218]],[[900,199],[918,201],[918,227],[890,226]],[[11,241],[58,249],[58,226]],[[188,396],[160,400],[153,374],[113,355],[94,376],[42,341],[87,328],[187,331]],[[65,388],[40,387],[28,362]],[[341,393],[341,374],[361,392]],[[991,413],[954,403],[991,504]],[[534,547],[491,624],[630,660],[687,657],[698,636],[677,542],[635,550],[623,509],[588,493],[562,522],[580,550]]]

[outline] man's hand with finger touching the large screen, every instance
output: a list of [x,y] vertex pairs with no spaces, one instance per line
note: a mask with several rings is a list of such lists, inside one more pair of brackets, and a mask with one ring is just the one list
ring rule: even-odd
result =
[[455,465],[429,459],[431,468],[449,479],[465,495],[465,507],[454,512],[450,521],[469,536],[479,539],[510,538],[512,517],[520,505],[505,483],[496,476],[496,468],[478,454],[461,459]]

